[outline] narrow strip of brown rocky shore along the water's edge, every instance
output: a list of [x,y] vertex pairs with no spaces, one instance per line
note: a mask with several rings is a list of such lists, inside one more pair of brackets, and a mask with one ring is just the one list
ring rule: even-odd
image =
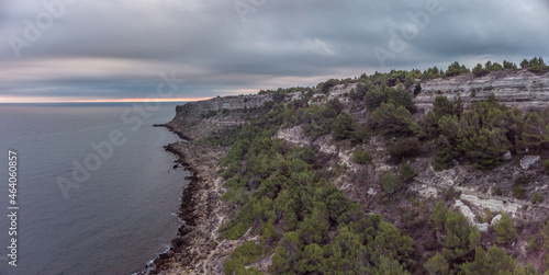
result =
[[[191,175],[186,177],[190,181],[182,192],[178,213],[183,224],[171,240],[171,248],[160,253],[141,274],[222,273],[224,261],[220,257],[228,257],[236,245],[231,243],[234,241],[216,241],[220,226],[234,213],[233,207],[220,199],[224,188],[222,179],[216,175],[216,163],[228,149],[201,146],[171,124],[154,126],[166,127],[181,138],[165,146],[165,150],[176,154],[177,162]],[[212,257],[215,261],[210,261]]]

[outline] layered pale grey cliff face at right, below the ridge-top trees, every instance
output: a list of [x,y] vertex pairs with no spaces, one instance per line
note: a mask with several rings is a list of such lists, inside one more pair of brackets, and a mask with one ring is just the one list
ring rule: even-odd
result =
[[[437,93],[439,90],[441,93]],[[418,107],[428,110],[438,94],[448,99],[459,95],[467,107],[471,102],[485,100],[491,93],[505,105],[523,111],[549,106],[549,73],[495,71],[480,78],[466,73],[435,79],[422,82],[422,92],[415,98],[415,102]]]

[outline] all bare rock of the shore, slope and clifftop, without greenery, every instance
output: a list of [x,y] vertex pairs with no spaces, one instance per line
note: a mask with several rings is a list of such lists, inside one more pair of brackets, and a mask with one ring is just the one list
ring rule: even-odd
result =
[[[329,99],[337,98],[344,104],[346,112],[360,123],[366,123],[369,119],[367,108],[363,105],[357,106],[348,96],[352,88],[356,88],[355,83],[336,85],[328,94],[315,93],[310,103],[323,104]],[[422,88],[422,92],[414,101],[424,110],[432,107],[437,94],[448,98],[459,95],[466,106],[473,101],[486,99],[491,93],[506,105],[522,110],[549,106],[549,73],[502,71],[481,78],[468,73],[424,81]],[[296,98],[299,93],[287,94],[282,101],[288,102]],[[168,149],[177,153],[181,162],[193,171],[194,180],[183,193],[180,209],[180,217],[186,220],[186,225],[179,229],[178,238],[172,241],[173,248],[155,261],[156,270],[152,272],[153,274],[222,274],[223,262],[236,247],[246,240],[257,241],[258,237],[253,236],[249,230],[238,240],[220,239],[220,226],[231,220],[237,210],[235,205],[220,199],[225,186],[224,180],[217,174],[220,170],[217,163],[228,148],[208,146],[203,140],[213,134],[229,135],[238,125],[248,122],[246,117],[250,113],[238,111],[257,108],[272,100],[272,94],[227,96],[177,107],[176,117],[166,126],[187,140],[172,144]],[[513,197],[515,182],[520,177],[529,181],[525,187],[528,196],[538,192],[547,197],[549,175],[541,172],[539,163],[534,169],[524,169],[518,163],[519,159],[514,158],[489,172],[459,163],[452,169],[435,172],[430,159],[419,157],[411,162],[417,172],[415,179],[407,185],[412,193],[406,193],[406,197],[399,204],[384,207],[379,205],[376,198],[377,194],[382,192],[378,182],[385,171],[397,173],[399,164],[390,161],[385,142],[381,137],[374,136],[363,145],[351,147],[346,142],[333,140],[330,135],[324,135],[313,141],[303,134],[302,127],[303,125],[280,128],[272,139],[313,148],[317,156],[321,156],[330,169],[333,168],[333,171],[327,173],[332,182],[350,199],[360,203],[369,214],[381,214],[397,227],[406,228],[410,222],[401,211],[408,209],[413,204],[408,202],[407,196],[411,196],[411,200],[424,202],[428,207],[434,207],[433,197],[450,196],[453,202],[452,207],[466,215],[469,222],[483,232],[483,242],[491,245],[495,242],[493,225],[480,219],[489,217],[489,214],[485,214],[486,209],[494,214],[503,211],[514,217],[515,225],[524,234],[524,238],[520,237],[516,245],[514,243],[507,251],[520,263],[534,263],[537,268],[542,265],[540,255],[545,254],[528,249],[526,237],[537,232],[539,225],[549,218],[549,205],[547,202],[535,204]],[[356,148],[372,154],[370,164],[363,165],[354,161]],[[449,193],[451,195],[448,195]],[[265,272],[271,261],[266,256],[253,266]]]

